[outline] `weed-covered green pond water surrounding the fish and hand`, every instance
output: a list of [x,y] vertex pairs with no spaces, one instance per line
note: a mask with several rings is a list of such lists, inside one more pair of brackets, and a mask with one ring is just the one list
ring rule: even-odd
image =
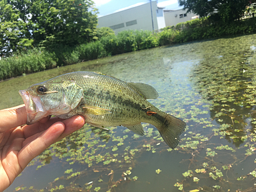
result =
[[85,125],[35,158],[5,191],[255,191],[256,35],[160,47],[0,82],[0,109],[18,90],[72,71],[99,71],[151,84],[159,109],[187,123],[171,150],[143,123]]

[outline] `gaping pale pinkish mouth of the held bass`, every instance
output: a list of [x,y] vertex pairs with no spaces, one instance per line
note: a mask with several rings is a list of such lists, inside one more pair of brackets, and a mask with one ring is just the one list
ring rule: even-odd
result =
[[19,95],[22,96],[27,112],[27,124],[33,124],[49,115],[44,109],[39,96],[32,96],[27,90],[19,90]]

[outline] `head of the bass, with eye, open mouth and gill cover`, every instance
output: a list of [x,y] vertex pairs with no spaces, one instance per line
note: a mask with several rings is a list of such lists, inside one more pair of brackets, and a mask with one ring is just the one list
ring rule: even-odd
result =
[[82,89],[74,81],[50,79],[20,90],[19,94],[26,106],[27,124],[33,124],[49,115],[72,111],[82,98]]

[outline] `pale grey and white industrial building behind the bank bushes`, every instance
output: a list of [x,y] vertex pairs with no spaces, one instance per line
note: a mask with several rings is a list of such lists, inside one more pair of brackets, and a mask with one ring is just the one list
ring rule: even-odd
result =
[[[182,17],[181,14],[183,15]],[[155,1],[152,2],[152,5],[148,2],[140,6],[98,17],[98,27],[110,27],[116,33],[124,30],[153,31],[190,20],[191,15],[195,14],[186,15],[186,11],[182,9],[176,11],[164,10],[164,7],[158,7]]]

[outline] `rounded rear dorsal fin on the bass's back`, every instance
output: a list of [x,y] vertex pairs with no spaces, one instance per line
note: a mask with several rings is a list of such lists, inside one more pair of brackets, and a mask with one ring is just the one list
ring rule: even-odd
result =
[[157,91],[155,88],[150,86],[149,84],[145,84],[142,82],[127,82],[130,84],[130,86],[133,86],[136,88],[143,96],[145,99],[156,99],[159,97]]

